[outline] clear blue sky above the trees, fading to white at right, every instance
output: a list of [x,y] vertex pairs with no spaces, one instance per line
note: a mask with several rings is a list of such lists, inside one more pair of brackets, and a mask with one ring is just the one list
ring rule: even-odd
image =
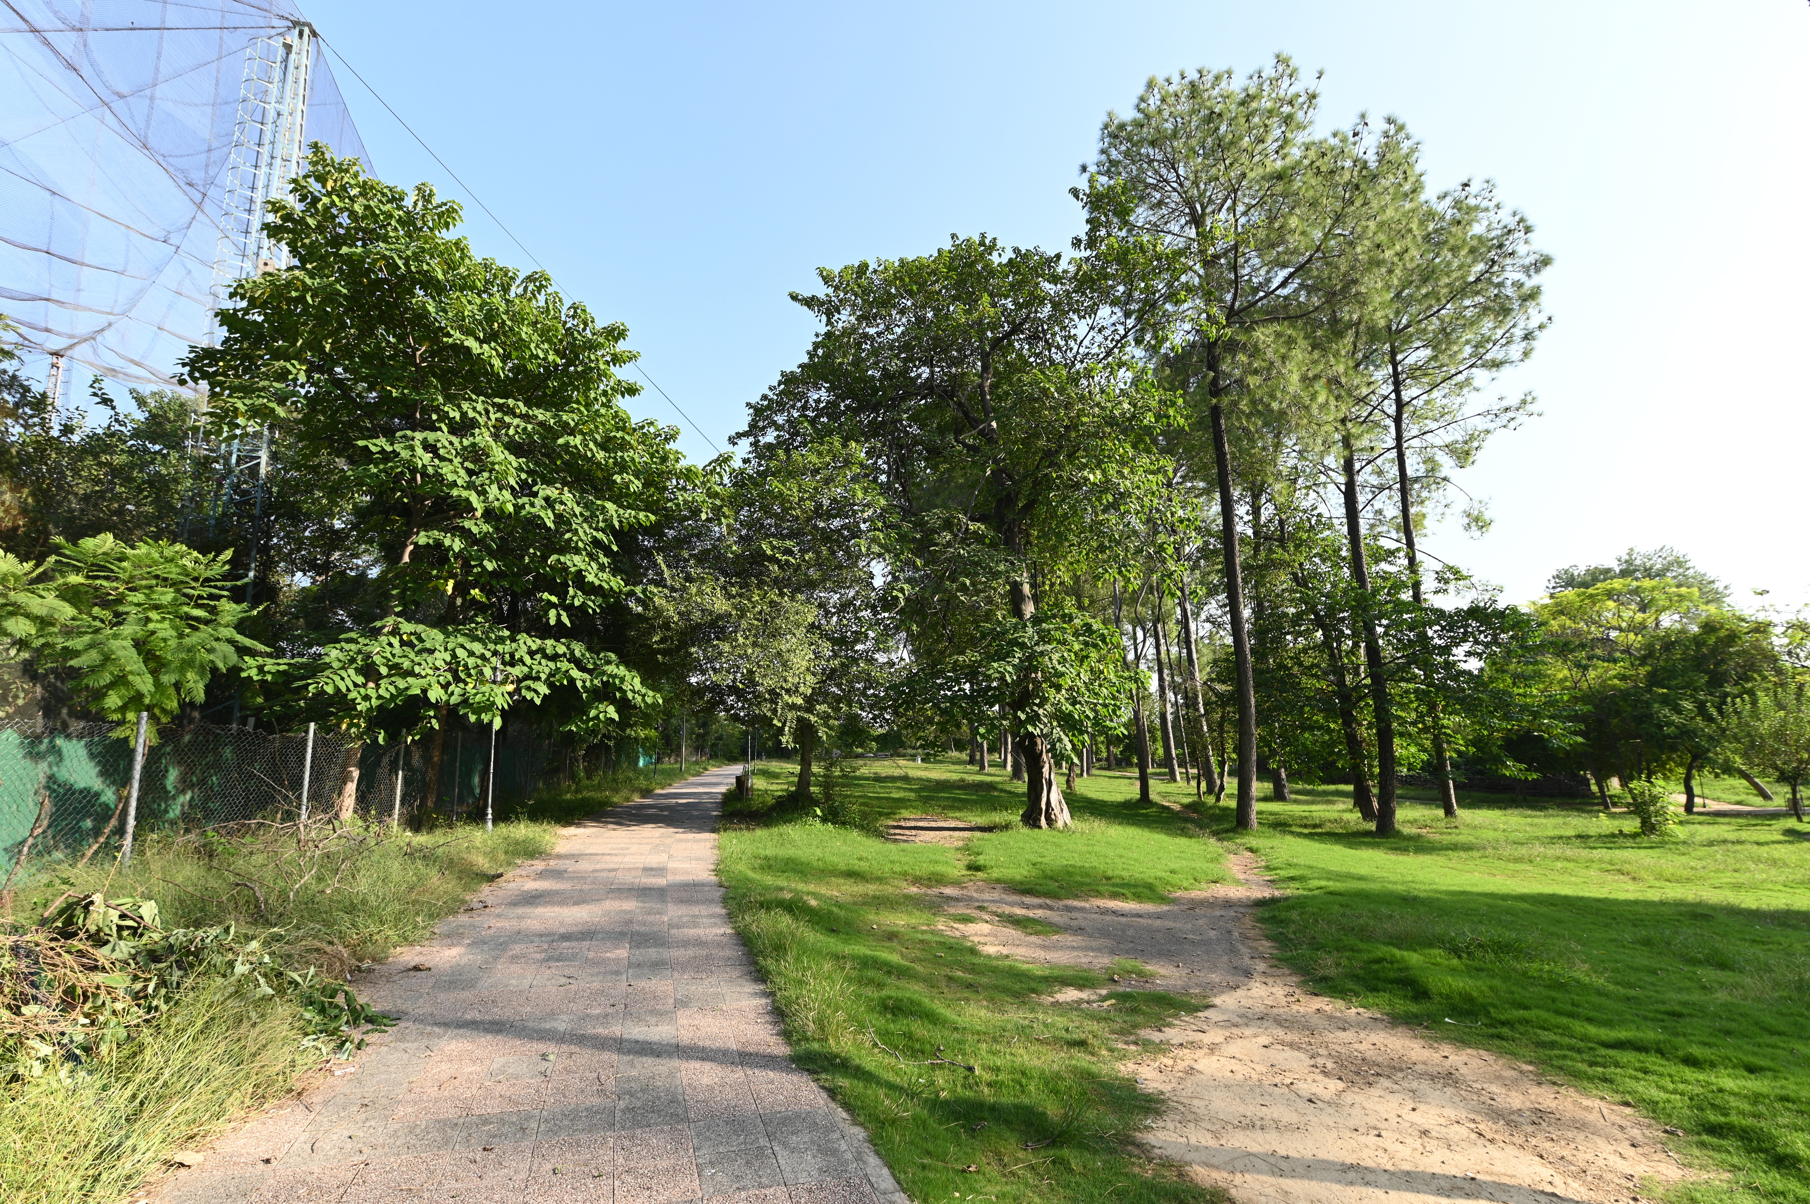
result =
[[[302,4],[719,445],[802,357],[787,291],[816,266],[952,232],[1062,248],[1108,109],[1285,51],[1325,71],[1327,123],[1403,118],[1435,185],[1495,177],[1557,257],[1555,324],[1500,384],[1544,416],[1464,478],[1495,529],[1430,550],[1519,601],[1672,543],[1743,596],[1810,601],[1805,0]],[[462,196],[338,74],[382,176]],[[632,409],[677,422],[652,391]]]

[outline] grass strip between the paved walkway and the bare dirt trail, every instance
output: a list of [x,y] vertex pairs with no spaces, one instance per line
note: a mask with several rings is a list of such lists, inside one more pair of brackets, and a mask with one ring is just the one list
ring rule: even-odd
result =
[[[1093,779],[1072,798],[1075,831],[1024,831],[1012,827],[1023,786],[997,769],[856,762],[838,782],[853,826],[833,827],[773,806],[789,786],[784,766],[762,766],[755,806],[728,817],[729,914],[795,1057],[867,1128],[912,1199],[1213,1199],[1131,1148],[1160,1101],[1117,1070],[1138,1028],[1204,1001],[1113,992],[1110,1008],[1050,1005],[1062,987],[1108,979],[981,954],[938,931],[947,913],[914,891],[981,878],[1057,898],[1162,900],[1225,878],[1198,820]],[[927,813],[1003,829],[965,851],[878,835],[889,818]]]

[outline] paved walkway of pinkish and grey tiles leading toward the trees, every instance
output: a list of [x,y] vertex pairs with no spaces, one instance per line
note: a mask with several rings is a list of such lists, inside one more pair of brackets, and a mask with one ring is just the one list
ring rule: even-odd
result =
[[[909,1204],[791,1065],[717,885],[713,769],[577,824],[364,976],[351,1074],[215,1142],[170,1204]],[[431,970],[411,970],[429,965]]]

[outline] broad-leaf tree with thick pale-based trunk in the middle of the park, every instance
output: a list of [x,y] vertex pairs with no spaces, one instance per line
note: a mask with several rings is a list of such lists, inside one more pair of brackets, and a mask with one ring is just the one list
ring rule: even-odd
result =
[[1017,666],[1010,710],[1024,724],[1034,827],[1070,822],[1061,733],[1048,726],[1062,713],[1050,693],[1066,684],[1039,675],[1037,659],[1014,650],[1024,639],[1006,639],[988,612],[1030,625],[1041,583],[1097,547],[1097,518],[1158,480],[1148,449],[1166,402],[1135,371],[1135,324],[1113,306],[1138,270],[1135,243],[1064,263],[988,237],[824,270],[824,291],[795,295],[822,324],[807,358],[738,436],[778,451],[822,438],[862,449],[912,655],[976,650],[941,637],[954,610],[988,664]]

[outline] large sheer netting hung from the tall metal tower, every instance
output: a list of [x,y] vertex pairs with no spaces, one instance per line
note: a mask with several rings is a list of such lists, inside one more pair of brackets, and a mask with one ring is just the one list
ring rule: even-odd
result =
[[[168,384],[208,340],[248,60],[300,20],[290,0],[0,7],[0,313],[40,375],[62,353]],[[304,139],[364,158],[324,47],[306,54]]]

